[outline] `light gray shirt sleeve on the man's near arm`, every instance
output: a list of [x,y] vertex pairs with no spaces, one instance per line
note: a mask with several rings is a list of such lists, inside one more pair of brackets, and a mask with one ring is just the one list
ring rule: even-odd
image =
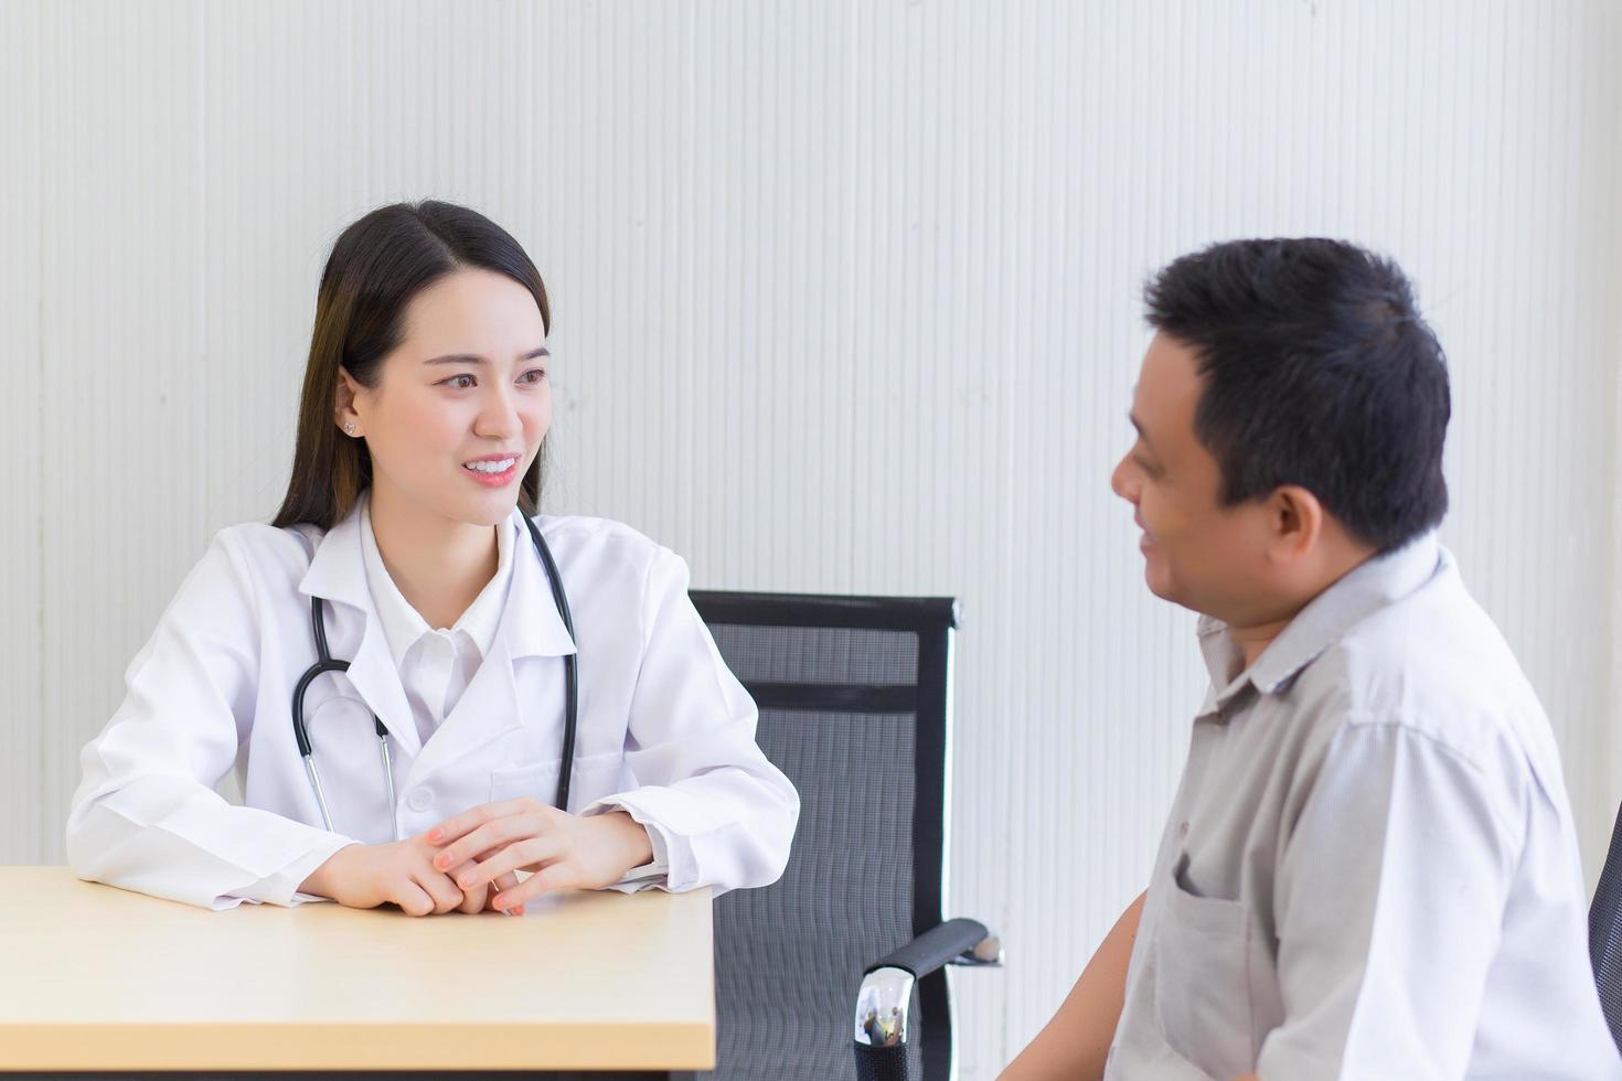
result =
[[1406,724],[1330,742],[1273,883],[1283,1023],[1257,1075],[1463,1078],[1497,950],[1525,773]]

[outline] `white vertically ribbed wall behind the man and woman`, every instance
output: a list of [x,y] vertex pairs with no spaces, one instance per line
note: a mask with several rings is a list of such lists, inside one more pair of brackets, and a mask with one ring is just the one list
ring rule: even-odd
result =
[[1544,3],[0,5],[0,859],[212,530],[279,502],[315,284],[467,201],[555,295],[555,511],[704,587],[950,593],[952,908],[989,1078],[1144,885],[1200,695],[1108,493],[1139,290],[1395,254],[1450,352],[1445,540],[1541,690],[1590,880],[1614,736],[1622,13]]

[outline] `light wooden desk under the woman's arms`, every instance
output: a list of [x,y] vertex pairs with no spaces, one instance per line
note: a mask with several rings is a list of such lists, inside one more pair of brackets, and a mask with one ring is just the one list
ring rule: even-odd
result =
[[715,1065],[710,895],[229,912],[0,867],[0,1071]]

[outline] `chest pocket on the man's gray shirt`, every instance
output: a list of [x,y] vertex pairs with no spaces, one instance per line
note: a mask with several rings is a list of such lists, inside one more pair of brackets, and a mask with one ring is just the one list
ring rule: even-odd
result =
[[1166,1044],[1213,1078],[1255,1068],[1251,1008],[1251,909],[1199,896],[1182,854],[1155,932],[1155,1019]]

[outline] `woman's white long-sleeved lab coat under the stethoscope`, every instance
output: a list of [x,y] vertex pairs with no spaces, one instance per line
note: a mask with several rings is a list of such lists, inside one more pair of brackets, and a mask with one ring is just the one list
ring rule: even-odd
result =
[[[324,533],[221,530],[125,674],[128,695],[81,755],[68,859],[81,878],[211,908],[292,904],[350,841],[412,836],[498,799],[551,802],[563,661],[579,645],[571,810],[620,807],[649,828],[668,890],[775,882],[800,799],[754,744],[756,710],[688,600],[686,564],[616,522],[537,517],[577,643],[522,519],[490,655],[423,744],[362,564],[360,514]],[[344,674],[316,677],[305,724],[337,833],[292,728],[315,663],[310,598],[326,603]],[[389,729],[388,807],[371,715]],[[237,770],[245,805],[216,786]],[[663,851],[660,851],[663,849]]]

